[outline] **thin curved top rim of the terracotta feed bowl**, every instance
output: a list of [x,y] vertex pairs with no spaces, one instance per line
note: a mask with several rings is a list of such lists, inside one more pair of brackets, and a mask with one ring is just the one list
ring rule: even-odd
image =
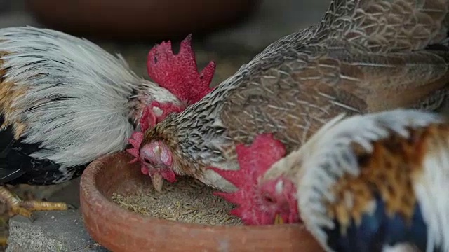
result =
[[[105,195],[103,195],[100,190],[98,190],[96,186],[95,181],[95,175],[100,172],[100,169],[104,167],[103,164],[107,163],[109,160],[114,160],[114,158],[117,158],[119,155],[128,155],[128,153],[114,153],[110,155],[105,155],[101,158],[98,158],[97,160],[94,160],[91,162],[91,164],[86,167],[84,170],[81,181],[80,181],[80,189],[81,194],[83,196],[90,196],[86,197],[86,200],[89,202],[100,202],[98,205],[101,209],[109,209],[109,211],[112,211],[112,214],[115,216],[132,216],[133,218],[142,221],[146,223],[147,221],[151,221],[152,223],[156,223],[158,225],[182,225],[183,227],[189,229],[189,230],[216,230],[216,231],[229,231],[229,230],[252,230],[254,228],[257,229],[266,229],[266,230],[285,230],[286,228],[300,228],[304,229],[303,225],[300,224],[283,224],[283,225],[206,225],[206,224],[200,224],[200,223],[184,223],[180,221],[171,221],[171,220],[165,220],[161,218],[154,218],[150,216],[143,216],[141,214],[137,214],[132,211],[128,211],[126,209],[123,209],[122,207],[119,207],[116,203],[109,200]],[[131,160],[131,157],[129,156],[129,160]],[[91,181],[92,183],[89,183]],[[86,193],[90,192],[90,193]],[[81,211],[83,211],[83,207],[81,207]],[[105,213],[105,211],[100,211],[101,213]]]

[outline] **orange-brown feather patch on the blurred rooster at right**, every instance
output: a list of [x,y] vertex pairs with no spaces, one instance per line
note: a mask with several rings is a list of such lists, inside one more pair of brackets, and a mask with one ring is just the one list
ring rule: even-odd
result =
[[[353,144],[358,158],[360,174],[344,174],[334,185],[335,203],[327,204],[330,218],[336,218],[345,232],[351,219],[361,222],[363,214],[370,214],[375,193],[386,204],[387,214],[400,214],[411,221],[416,196],[413,184],[421,176],[423,160],[433,139],[443,139],[449,134],[448,124],[436,124],[417,130],[408,130],[410,136],[404,139],[398,134],[373,143],[368,153],[358,144]],[[354,192],[351,195],[347,192]],[[351,198],[351,206],[347,202]]]

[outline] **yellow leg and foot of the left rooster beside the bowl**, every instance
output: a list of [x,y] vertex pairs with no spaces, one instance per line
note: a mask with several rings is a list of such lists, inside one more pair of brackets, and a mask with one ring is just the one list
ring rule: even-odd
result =
[[19,214],[31,220],[33,211],[62,211],[73,208],[71,205],[63,202],[21,200],[4,186],[0,186],[0,200],[8,205],[10,216]]

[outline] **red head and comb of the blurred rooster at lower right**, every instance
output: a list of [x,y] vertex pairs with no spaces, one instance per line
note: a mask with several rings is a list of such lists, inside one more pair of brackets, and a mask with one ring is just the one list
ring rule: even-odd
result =
[[214,169],[238,188],[232,193],[214,193],[237,206],[231,214],[241,218],[246,225],[299,222],[294,193],[297,190],[297,181],[293,179],[295,170],[276,169],[286,174],[264,180],[264,174],[271,172],[270,168],[286,155],[281,141],[274,139],[272,134],[261,134],[250,146],[237,145],[236,153],[239,170]]

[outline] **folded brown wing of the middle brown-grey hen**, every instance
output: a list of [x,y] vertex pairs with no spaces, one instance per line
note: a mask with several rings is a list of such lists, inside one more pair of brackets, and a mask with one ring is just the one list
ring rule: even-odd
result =
[[230,92],[221,119],[229,137],[239,143],[249,144],[257,134],[274,132],[292,151],[340,113],[413,107],[435,90],[444,90],[449,53],[442,56],[335,53],[305,61],[302,67],[288,63],[272,67]]

